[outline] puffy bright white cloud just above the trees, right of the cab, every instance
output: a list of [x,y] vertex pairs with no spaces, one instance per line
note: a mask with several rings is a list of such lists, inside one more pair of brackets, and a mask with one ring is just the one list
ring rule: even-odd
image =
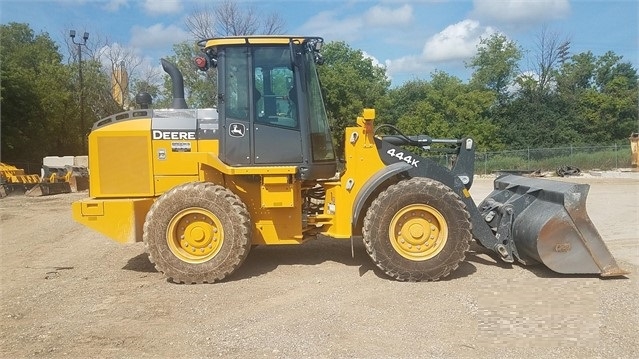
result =
[[477,51],[480,38],[489,37],[495,32],[491,27],[480,26],[478,21],[466,19],[428,39],[422,55],[427,61],[433,62],[468,59]]

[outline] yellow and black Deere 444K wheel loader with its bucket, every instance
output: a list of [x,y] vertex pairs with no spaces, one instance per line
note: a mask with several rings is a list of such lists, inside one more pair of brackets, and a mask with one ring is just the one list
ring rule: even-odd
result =
[[[168,109],[101,119],[89,135],[89,198],[78,222],[144,242],[177,283],[231,275],[256,245],[317,236],[363,240],[388,277],[435,281],[475,240],[501,261],[559,273],[627,274],[586,213],[587,185],[506,175],[479,205],[470,195],[472,138],[405,136],[363,109],[338,160],[322,100],[319,37],[240,36],[198,43],[217,71],[217,108],[190,109],[183,78]],[[146,99],[149,96],[138,96]],[[441,165],[420,155],[452,152]]]

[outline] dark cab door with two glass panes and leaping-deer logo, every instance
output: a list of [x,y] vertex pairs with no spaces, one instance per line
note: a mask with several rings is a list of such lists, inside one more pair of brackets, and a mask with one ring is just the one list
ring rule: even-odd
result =
[[231,166],[301,165],[299,79],[290,46],[229,46],[220,55],[222,161]]

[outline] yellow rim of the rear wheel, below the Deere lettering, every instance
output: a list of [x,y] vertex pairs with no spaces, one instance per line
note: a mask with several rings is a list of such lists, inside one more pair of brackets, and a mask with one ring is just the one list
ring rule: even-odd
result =
[[171,252],[182,261],[203,263],[215,257],[222,248],[224,230],[213,213],[185,209],[171,218],[166,240]]

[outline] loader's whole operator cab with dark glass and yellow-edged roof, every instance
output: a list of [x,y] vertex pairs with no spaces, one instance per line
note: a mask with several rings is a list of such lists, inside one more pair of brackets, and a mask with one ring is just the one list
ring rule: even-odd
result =
[[231,166],[295,165],[303,180],[337,163],[316,65],[318,37],[248,36],[199,42],[217,68],[220,159]]

